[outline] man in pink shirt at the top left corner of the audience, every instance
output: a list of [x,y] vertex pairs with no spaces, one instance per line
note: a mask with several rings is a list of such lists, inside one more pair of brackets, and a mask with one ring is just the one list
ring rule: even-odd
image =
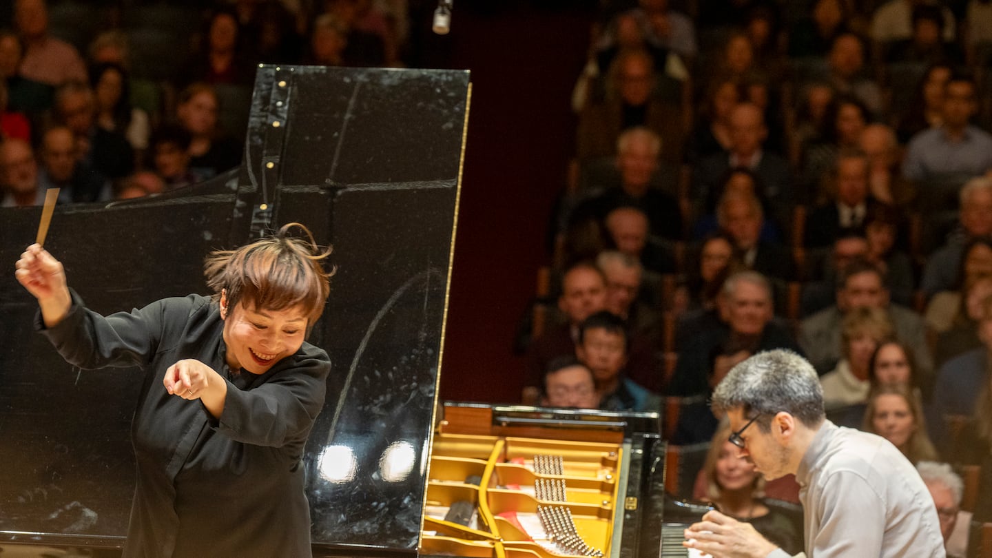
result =
[[24,44],[21,75],[53,86],[86,80],[86,67],[75,47],[49,35],[45,0],[14,0],[14,23]]

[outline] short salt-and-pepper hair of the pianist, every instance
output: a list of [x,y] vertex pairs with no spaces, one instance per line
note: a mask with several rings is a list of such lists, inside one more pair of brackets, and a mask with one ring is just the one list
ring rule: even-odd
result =
[[724,411],[741,409],[745,418],[763,432],[771,431],[772,417],[785,411],[809,428],[823,422],[823,388],[816,370],[792,350],[759,352],[730,369],[713,391],[713,406]]

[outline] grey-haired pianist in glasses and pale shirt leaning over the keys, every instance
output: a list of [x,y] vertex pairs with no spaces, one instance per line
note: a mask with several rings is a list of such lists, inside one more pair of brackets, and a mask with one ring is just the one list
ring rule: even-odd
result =
[[[737,364],[716,386],[713,405],[727,412],[730,442],[766,480],[796,475],[807,556],[944,556],[920,475],[884,438],[826,420],[819,380],[802,356],[772,350]],[[788,556],[751,524],[718,511],[685,538],[716,558]]]

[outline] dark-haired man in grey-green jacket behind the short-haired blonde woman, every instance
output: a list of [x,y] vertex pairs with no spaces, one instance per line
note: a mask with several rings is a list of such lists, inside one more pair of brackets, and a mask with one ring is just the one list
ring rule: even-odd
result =
[[855,308],[884,310],[896,331],[896,338],[916,351],[919,381],[925,393],[932,386],[933,358],[927,344],[927,326],[916,312],[891,304],[885,274],[867,260],[856,260],[841,271],[836,304],[803,320],[800,346],[820,374],[832,370],[841,358],[841,325]]

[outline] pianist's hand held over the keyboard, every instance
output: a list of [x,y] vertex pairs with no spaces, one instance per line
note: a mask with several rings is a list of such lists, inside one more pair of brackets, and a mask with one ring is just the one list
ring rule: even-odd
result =
[[768,542],[751,523],[738,521],[719,511],[707,511],[702,521],[685,529],[682,545],[715,558],[765,558],[777,546]]

